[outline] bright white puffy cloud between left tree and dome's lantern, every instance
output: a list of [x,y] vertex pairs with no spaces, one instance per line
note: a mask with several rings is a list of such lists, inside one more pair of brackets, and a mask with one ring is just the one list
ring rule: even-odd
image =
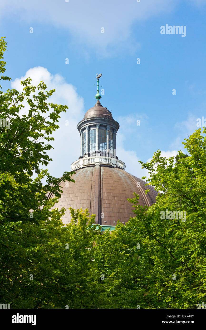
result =
[[[22,90],[21,80],[30,77],[32,84],[37,85],[40,81],[44,81],[47,89],[56,89],[56,92],[49,98],[50,102],[67,105],[66,113],[61,113],[59,120],[60,128],[53,133],[55,141],[51,141],[54,149],[48,151],[49,156],[53,159],[48,166],[49,173],[55,177],[62,176],[63,172],[70,171],[70,166],[73,161],[78,159],[80,155],[80,137],[77,130],[77,123],[84,116],[84,102],[80,97],[76,88],[67,82],[60,74],[52,75],[44,67],[35,67],[29,69],[24,77],[15,79],[11,83],[12,88]],[[26,109],[22,109],[24,113]],[[69,125],[65,125],[65,120],[68,120]]]

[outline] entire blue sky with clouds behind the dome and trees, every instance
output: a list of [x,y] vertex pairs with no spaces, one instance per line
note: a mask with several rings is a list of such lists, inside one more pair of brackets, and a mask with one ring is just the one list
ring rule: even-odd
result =
[[[53,101],[69,106],[55,132],[52,175],[70,170],[80,155],[76,124],[95,104],[97,73],[103,74],[101,103],[120,123],[117,156],[128,172],[142,177],[138,160],[157,149],[166,156],[183,149],[196,119],[206,118],[205,14],[205,0],[1,0],[12,77],[3,87],[20,89],[28,75],[34,84],[43,79],[57,90]],[[186,26],[186,36],[161,35],[166,24]]]

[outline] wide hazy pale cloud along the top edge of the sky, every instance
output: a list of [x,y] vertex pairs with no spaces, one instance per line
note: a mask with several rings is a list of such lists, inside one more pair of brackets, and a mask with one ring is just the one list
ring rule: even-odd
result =
[[[132,25],[160,13],[171,12],[179,0],[1,0],[0,16],[15,16],[33,27],[36,22],[64,28],[77,42],[92,46],[104,55],[117,53],[116,47],[133,51],[139,47],[132,36]],[[32,24],[32,25],[31,25]],[[104,33],[101,28],[104,27]],[[65,32],[66,33],[66,32]],[[65,34],[66,38],[66,34]],[[130,43],[128,44],[128,41]],[[107,46],[111,46],[109,49]]]

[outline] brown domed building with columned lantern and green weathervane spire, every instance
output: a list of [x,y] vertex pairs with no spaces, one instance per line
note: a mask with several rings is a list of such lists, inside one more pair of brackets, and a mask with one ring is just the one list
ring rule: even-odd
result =
[[80,157],[71,164],[71,170],[76,173],[72,175],[75,183],[60,183],[63,193],[53,209],[66,209],[62,221],[67,224],[71,220],[69,207],[87,208],[90,215],[96,215],[96,223],[103,230],[112,230],[118,220],[125,223],[134,217],[134,208],[127,201],[134,197],[134,192],[139,194],[139,204],[143,206],[155,203],[157,192],[150,186],[150,192],[145,194],[146,182],[126,172],[125,163],[116,156],[119,123],[100,103],[99,79],[97,83],[97,102],[77,124]]

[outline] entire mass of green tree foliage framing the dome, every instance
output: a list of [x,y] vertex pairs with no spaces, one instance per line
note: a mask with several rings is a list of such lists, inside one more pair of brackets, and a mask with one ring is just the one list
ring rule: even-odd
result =
[[[1,59],[5,50],[2,38]],[[65,226],[65,209],[51,210],[60,180],[41,166],[51,161],[51,135],[67,107],[48,103],[54,90],[40,82],[36,93],[30,81],[22,82],[22,93],[0,91],[0,119],[11,123],[0,127],[0,302],[31,309],[196,308],[206,294],[206,129],[185,139],[187,153],[180,151],[176,162],[160,150],[140,162],[148,190],[160,193],[151,207],[134,194],[134,217],[125,225],[102,234],[95,215],[70,208]],[[73,181],[71,175],[61,181]],[[46,197],[49,191],[55,198]]]

